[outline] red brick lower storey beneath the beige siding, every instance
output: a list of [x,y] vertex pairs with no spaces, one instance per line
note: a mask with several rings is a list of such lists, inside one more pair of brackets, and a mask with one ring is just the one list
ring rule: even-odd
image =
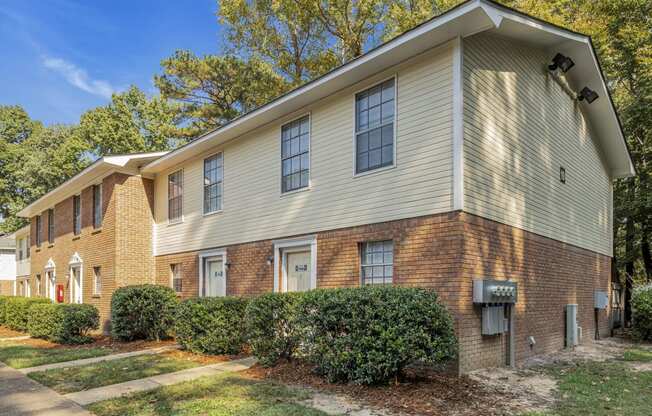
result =
[[[516,359],[564,346],[564,305],[579,305],[583,340],[593,338],[593,291],[608,290],[609,257],[514,227],[452,212],[352,227],[317,234],[317,287],[360,285],[360,244],[394,241],[394,283],[430,287],[454,315],[460,340],[460,371],[505,363],[504,336],[482,336],[481,310],[472,303],[475,278],[510,279],[519,285],[516,305]],[[273,290],[271,240],[226,248],[228,295]],[[183,296],[196,296],[198,253],[156,258],[156,280],[170,285],[170,265],[181,264]],[[608,330],[606,313],[600,330]],[[530,347],[528,337],[536,344]]]

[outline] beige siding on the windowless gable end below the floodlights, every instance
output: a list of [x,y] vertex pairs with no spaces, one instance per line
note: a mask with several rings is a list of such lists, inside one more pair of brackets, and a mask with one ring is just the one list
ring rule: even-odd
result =
[[611,179],[580,105],[545,70],[551,57],[464,41],[464,210],[611,256]]

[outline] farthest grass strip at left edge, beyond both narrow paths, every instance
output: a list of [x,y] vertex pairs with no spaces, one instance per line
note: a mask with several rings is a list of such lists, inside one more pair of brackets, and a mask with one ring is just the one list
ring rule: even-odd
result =
[[28,368],[43,364],[99,357],[112,352],[113,350],[110,348],[104,347],[38,348],[20,344],[0,344],[0,361],[13,368]]

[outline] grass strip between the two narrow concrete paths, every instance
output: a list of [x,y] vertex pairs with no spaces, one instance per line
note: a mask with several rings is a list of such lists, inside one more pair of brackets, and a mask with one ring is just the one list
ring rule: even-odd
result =
[[39,371],[30,373],[29,377],[65,394],[172,373],[199,365],[200,363],[195,361],[166,355],[140,355],[81,367]]

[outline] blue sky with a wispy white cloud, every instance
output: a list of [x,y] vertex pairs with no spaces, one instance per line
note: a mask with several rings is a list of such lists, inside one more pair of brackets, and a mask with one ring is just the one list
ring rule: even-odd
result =
[[176,49],[216,53],[216,0],[0,0],[0,105],[76,123],[134,84],[155,93]]

